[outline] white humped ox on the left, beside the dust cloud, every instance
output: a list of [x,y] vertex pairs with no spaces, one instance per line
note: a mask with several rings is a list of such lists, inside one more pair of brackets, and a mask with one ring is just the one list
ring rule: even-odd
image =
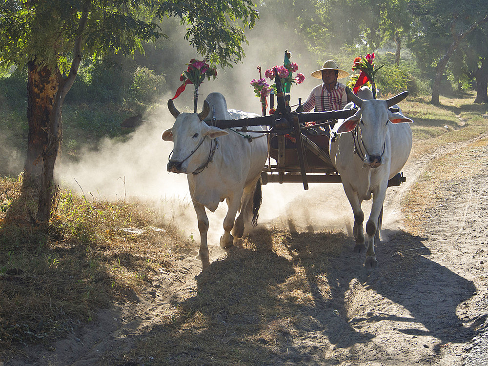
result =
[[[220,202],[227,202],[224,235],[220,238],[222,248],[238,243],[244,234],[244,224],[251,217],[252,224],[256,224],[261,205],[260,175],[267,158],[267,140],[263,133],[238,133],[203,122],[212,118],[259,117],[255,113],[227,110],[227,103],[220,93],[209,94],[203,102],[203,111],[198,114],[178,112],[172,100],[168,101],[168,108],[176,122],[163,132],[163,140],[174,143],[167,170],[187,174],[200,232],[199,256],[205,268],[209,265],[205,207],[214,212]],[[264,131],[262,126],[252,129]],[[236,219],[238,211],[240,214]]]

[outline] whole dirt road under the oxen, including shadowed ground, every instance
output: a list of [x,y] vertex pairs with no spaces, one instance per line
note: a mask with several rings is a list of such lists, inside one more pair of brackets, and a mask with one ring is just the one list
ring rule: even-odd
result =
[[487,161],[486,139],[410,160],[407,183],[388,190],[371,274],[343,193],[316,187],[299,198],[302,222],[266,223],[204,273],[182,255],[137,305],[5,366],[474,365],[488,313]]

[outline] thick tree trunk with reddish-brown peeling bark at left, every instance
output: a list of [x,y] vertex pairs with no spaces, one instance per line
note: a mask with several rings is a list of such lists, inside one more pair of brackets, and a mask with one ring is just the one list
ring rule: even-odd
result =
[[24,184],[38,198],[38,223],[50,218],[54,163],[61,141],[61,106],[56,103],[60,87],[59,70],[27,65],[27,121],[29,135],[24,164]]

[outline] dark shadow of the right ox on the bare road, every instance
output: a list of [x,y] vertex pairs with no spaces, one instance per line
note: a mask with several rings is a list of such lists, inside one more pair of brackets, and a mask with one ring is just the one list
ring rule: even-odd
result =
[[476,324],[463,325],[456,309],[476,293],[475,285],[430,260],[427,238],[401,230],[383,230],[382,234],[388,239],[376,246],[379,268],[367,277],[365,285],[406,308],[411,317],[359,314],[356,320],[405,322],[404,327],[398,327],[399,332],[438,339],[436,352],[450,342],[468,342]]

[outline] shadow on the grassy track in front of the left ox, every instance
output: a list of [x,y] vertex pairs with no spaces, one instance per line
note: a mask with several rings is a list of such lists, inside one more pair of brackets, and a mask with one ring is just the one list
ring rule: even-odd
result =
[[[346,236],[308,230],[260,228],[249,235],[244,248],[232,248],[196,277],[192,297],[170,299],[177,309],[171,323],[147,334],[158,339],[165,360],[182,365],[210,360],[313,363],[322,360],[324,349],[332,349],[342,334],[356,332],[338,315],[343,300],[322,281],[332,253],[342,251]],[[357,267],[359,271],[361,265]],[[343,274],[334,287],[345,288],[354,278],[353,271]],[[361,334],[350,344],[372,337]]]

